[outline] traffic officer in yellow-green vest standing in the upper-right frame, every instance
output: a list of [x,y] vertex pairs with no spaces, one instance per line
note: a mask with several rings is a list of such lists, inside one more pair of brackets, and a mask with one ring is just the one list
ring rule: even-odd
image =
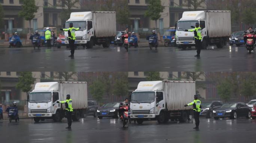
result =
[[195,47],[196,47],[196,55],[195,57],[200,58],[200,53],[201,53],[201,40],[202,40],[202,29],[199,27],[199,23],[196,22],[194,29],[185,29],[186,32],[194,32],[194,38],[195,38]]

